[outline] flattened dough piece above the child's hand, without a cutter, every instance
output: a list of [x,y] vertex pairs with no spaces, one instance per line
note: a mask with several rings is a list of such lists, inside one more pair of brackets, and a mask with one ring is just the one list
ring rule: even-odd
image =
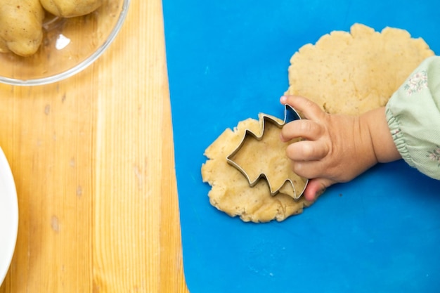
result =
[[375,32],[361,24],[325,34],[290,59],[287,95],[304,96],[325,112],[358,115],[384,106],[408,75],[434,52],[406,30]]

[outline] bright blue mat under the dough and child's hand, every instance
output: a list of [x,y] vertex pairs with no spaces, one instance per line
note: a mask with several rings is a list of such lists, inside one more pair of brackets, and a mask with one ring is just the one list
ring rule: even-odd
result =
[[203,152],[258,112],[283,116],[290,56],[354,22],[440,52],[439,1],[163,0],[183,265],[192,293],[438,292],[440,182],[404,162],[333,185],[282,223],[209,204]]

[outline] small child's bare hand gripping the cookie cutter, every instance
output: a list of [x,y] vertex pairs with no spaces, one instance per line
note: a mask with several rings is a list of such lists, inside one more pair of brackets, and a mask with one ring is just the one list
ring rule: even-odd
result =
[[[333,183],[350,181],[377,162],[389,162],[400,156],[389,134],[384,108],[354,117],[330,115],[299,96],[283,96],[280,102],[291,105],[306,118],[287,123],[281,131],[282,141],[304,138],[290,144],[286,152],[292,159],[293,171],[311,179],[304,190],[306,200],[314,200]],[[378,126],[380,129],[372,128]],[[383,138],[377,140],[371,129],[379,136],[389,136],[387,143],[391,145],[383,145]],[[380,157],[382,148],[393,147],[392,158]],[[380,151],[379,156],[376,151]]]

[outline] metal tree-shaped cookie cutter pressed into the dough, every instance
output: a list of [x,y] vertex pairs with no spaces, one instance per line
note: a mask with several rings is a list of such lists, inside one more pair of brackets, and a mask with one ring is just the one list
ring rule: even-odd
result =
[[271,182],[268,180],[268,176],[266,175],[266,173],[259,174],[259,176],[257,176],[257,178],[254,181],[252,181],[249,174],[247,174],[247,171],[245,171],[245,169],[243,169],[240,166],[240,164],[238,164],[237,162],[235,162],[233,160],[233,157],[240,151],[242,146],[245,144],[246,138],[248,136],[252,136],[255,139],[257,139],[257,141],[261,141],[261,139],[264,136],[264,128],[265,128],[266,123],[274,124],[278,128],[281,129],[281,128],[283,128],[283,126],[286,123],[292,122],[297,119],[301,119],[301,117],[299,116],[298,112],[294,108],[292,108],[290,105],[285,105],[283,122],[279,122],[279,120],[276,119],[275,117],[270,116],[270,115],[265,115],[265,114],[262,115],[262,119],[263,119],[263,123],[262,123],[262,129],[261,129],[261,136],[257,136],[249,129],[246,129],[245,135],[243,136],[242,141],[240,142],[238,147],[235,148],[235,150],[231,153],[231,155],[228,155],[228,157],[226,157],[226,161],[228,162],[228,164],[231,164],[233,167],[238,169],[238,171],[240,171],[245,176],[245,178],[247,179],[247,181],[249,182],[249,185],[251,187],[256,185],[261,178],[266,178],[266,182],[268,183],[268,187],[271,192],[271,195],[276,195],[277,193],[280,192],[280,189],[283,188],[283,186],[285,186],[285,184],[287,183],[288,185],[290,185],[292,187],[292,190],[293,190],[293,195],[291,195],[291,196],[295,200],[297,200],[299,197],[301,197],[302,193],[304,193],[304,190],[306,189],[306,186],[307,186],[307,183],[309,182],[309,179],[304,178],[305,184],[304,184],[304,188],[302,188],[302,190],[297,190],[297,188],[295,188],[294,182],[292,182],[292,180],[290,178],[286,178],[285,181],[283,181],[283,183],[278,186],[278,188],[274,189],[273,186],[271,185]]

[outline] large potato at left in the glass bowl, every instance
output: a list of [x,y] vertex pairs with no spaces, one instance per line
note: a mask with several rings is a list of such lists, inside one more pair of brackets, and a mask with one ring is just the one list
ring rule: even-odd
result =
[[0,0],[0,52],[30,56],[43,40],[39,0]]

